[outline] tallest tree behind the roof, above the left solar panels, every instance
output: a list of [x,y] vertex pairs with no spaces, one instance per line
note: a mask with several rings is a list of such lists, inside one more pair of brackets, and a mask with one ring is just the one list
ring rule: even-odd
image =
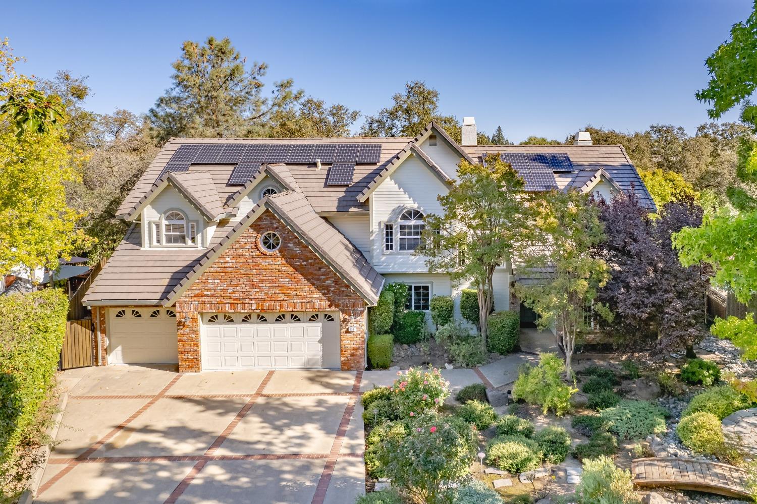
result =
[[273,96],[263,97],[268,65],[245,67],[246,58],[229,39],[187,41],[173,62],[173,86],[155,102],[149,117],[157,142],[172,136],[260,135],[263,120],[301,98],[291,79],[274,82]]

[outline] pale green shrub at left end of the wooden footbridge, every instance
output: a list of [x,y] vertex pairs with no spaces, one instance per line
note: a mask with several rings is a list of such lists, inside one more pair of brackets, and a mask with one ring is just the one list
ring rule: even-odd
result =
[[631,472],[615,467],[605,456],[584,461],[581,483],[575,487],[578,504],[631,504],[639,502],[631,483]]

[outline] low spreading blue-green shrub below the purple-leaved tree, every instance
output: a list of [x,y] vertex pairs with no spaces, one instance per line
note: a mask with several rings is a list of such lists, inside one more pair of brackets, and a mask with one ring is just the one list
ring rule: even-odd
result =
[[618,406],[603,409],[600,417],[609,431],[624,439],[643,439],[665,431],[665,410],[646,401],[622,400]]

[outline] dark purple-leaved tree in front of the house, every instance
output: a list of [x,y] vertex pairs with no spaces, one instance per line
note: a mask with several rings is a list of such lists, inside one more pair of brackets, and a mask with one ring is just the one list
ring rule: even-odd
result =
[[652,359],[691,347],[704,334],[709,269],[681,266],[671,234],[700,222],[702,209],[680,198],[659,206],[653,219],[633,193],[599,205],[606,241],[596,254],[612,268],[612,278],[597,300],[615,314],[600,324],[619,344],[646,350]]

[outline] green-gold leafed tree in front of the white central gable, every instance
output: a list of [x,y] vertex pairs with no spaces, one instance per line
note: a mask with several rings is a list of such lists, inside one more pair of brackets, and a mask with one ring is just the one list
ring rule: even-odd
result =
[[424,238],[429,272],[449,273],[456,284],[466,281],[478,291],[478,322],[486,346],[488,319],[494,306],[494,269],[519,250],[530,223],[531,194],[509,163],[497,155],[486,167],[462,160],[458,179],[438,197],[443,212],[426,216]]

